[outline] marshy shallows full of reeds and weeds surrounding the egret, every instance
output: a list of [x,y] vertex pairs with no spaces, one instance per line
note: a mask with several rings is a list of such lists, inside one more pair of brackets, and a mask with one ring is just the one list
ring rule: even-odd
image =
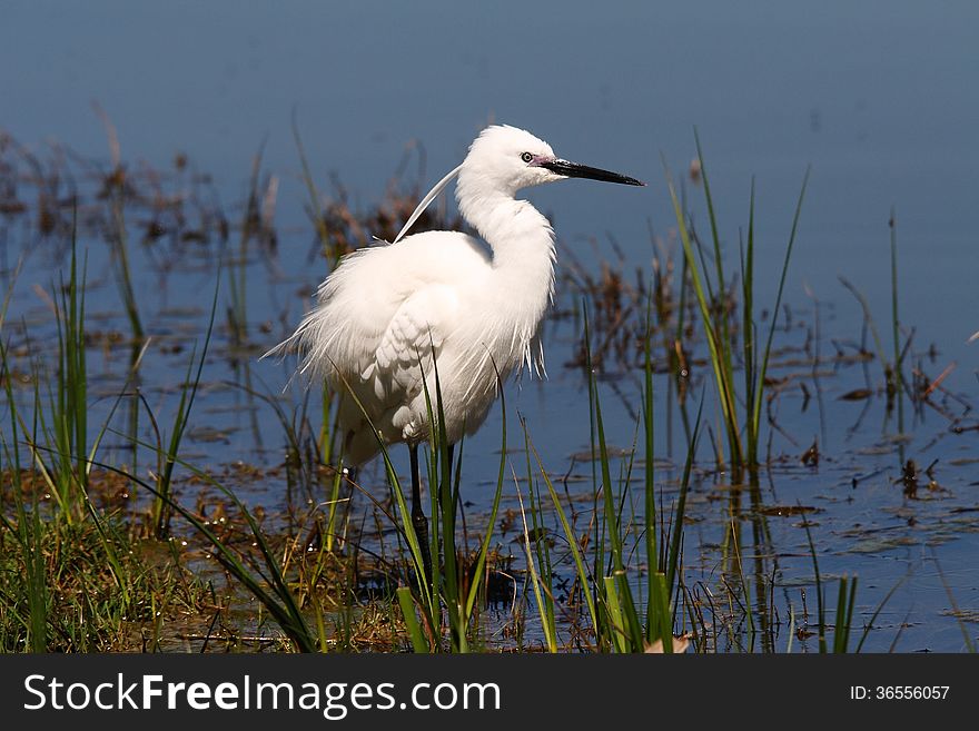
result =
[[[463,444],[451,461],[433,429],[423,466],[428,575],[394,458],[384,452],[356,475],[335,470],[336,395],[283,394],[255,367],[309,286],[372,236],[397,233],[418,198],[407,164],[384,200],[358,210],[338,182],[328,195],[318,188],[294,125],[307,192],[304,266],[317,274],[304,271],[304,287],[284,297],[259,286],[259,275],[285,278],[279,184],[260,151],[245,201],[227,213],[184,156],[166,171],[127,166],[106,124],[109,166],[58,147],[39,155],[0,131],[4,651],[846,652],[880,633],[887,649],[907,624],[882,621],[904,577],[858,583],[838,572],[827,542],[842,536],[861,555],[979,531],[968,501],[929,505],[950,495],[937,475],[951,467],[909,452],[906,405],[918,424],[938,414],[936,439],[970,438],[979,425],[969,399],[943,385],[947,372],[926,373],[929,353],[898,319],[893,217],[892,353],[847,283],[861,337],[831,339],[827,355],[820,304],[802,326],[783,302],[804,180],[778,296],[763,309],[753,184],[731,276],[698,140],[685,185],[702,190],[708,244],[668,172],[675,227],[653,240],[647,268],[626,274],[619,256],[594,274],[562,253],[553,320],[571,333],[566,373],[587,405],[574,444],[586,447],[570,463],[555,455],[505,392],[488,458]],[[435,208],[417,223],[458,225]],[[175,284],[171,275],[189,273],[206,287],[188,294]],[[154,277],[158,312],[138,294],[137,279]],[[118,292],[111,305],[99,289],[107,280]],[[24,296],[31,287],[40,307]],[[256,296],[274,317],[256,319]],[[834,401],[869,407],[883,394],[879,454],[890,462],[876,472],[822,454],[819,438],[799,443],[780,419],[785,401],[804,412],[813,399],[824,432],[824,384],[848,368],[866,383]],[[437,373],[426,374],[426,389],[437,423]],[[775,436],[788,447],[775,450]],[[821,461],[841,491],[876,480],[921,505],[897,517],[924,537],[872,518],[866,531],[849,521],[853,533],[820,533],[829,518],[820,505],[852,503],[852,494],[824,500],[782,481],[819,475]],[[952,599],[949,612],[971,649],[969,610]]]

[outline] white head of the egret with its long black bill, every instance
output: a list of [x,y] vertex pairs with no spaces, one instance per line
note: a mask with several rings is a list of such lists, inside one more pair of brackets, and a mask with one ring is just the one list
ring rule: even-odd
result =
[[544,140],[507,125],[484,129],[469,147],[459,170],[461,185],[479,188],[486,194],[498,191],[510,196],[521,188],[565,178],[645,185],[616,172],[563,160]]

